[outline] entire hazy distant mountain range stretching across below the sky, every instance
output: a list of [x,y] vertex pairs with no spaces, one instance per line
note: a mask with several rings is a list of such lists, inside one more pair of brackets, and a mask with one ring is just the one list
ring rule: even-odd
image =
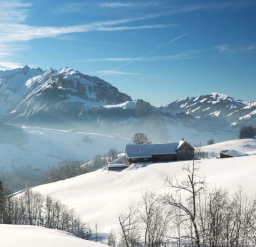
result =
[[25,66],[0,71],[0,121],[12,124],[129,138],[142,131],[153,141],[163,142],[177,135],[193,138],[206,133],[208,137],[207,133],[216,135],[216,130],[255,126],[255,113],[256,103],[217,93],[156,108],[71,68],[43,71]]

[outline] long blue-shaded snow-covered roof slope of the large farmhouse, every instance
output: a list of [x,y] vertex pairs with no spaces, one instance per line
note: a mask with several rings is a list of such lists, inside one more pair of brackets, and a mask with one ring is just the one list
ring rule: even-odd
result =
[[127,158],[151,158],[152,154],[176,154],[178,146],[179,143],[127,144],[126,156]]

